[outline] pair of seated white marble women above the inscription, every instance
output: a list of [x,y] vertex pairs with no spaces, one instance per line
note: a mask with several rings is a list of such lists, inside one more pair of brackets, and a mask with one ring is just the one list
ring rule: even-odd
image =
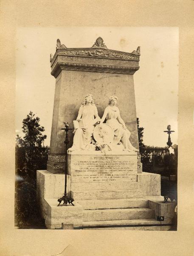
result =
[[[75,150],[91,150],[90,143],[93,140],[93,132],[95,125],[99,131],[99,137],[105,139],[106,133],[103,131],[103,122],[106,119],[106,124],[110,126],[111,132],[113,134],[111,143],[108,144],[109,150],[118,150],[118,145],[121,145],[123,151],[138,151],[137,148],[133,147],[129,141],[130,131],[126,128],[123,119],[121,119],[120,112],[116,106],[117,97],[111,96],[109,98],[109,105],[104,110],[102,118],[98,116],[98,110],[93,101],[93,96],[87,94],[85,96],[84,102],[79,108],[79,113],[76,121],[82,125],[76,126],[73,131],[73,146],[68,149],[68,151]],[[108,136],[107,136],[108,138]],[[94,148],[93,148],[94,150]]]

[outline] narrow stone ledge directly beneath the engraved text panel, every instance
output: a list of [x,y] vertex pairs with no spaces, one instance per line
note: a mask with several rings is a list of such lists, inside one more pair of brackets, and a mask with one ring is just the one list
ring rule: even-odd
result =
[[71,190],[93,190],[93,189],[138,189],[138,182],[81,182],[71,183]]

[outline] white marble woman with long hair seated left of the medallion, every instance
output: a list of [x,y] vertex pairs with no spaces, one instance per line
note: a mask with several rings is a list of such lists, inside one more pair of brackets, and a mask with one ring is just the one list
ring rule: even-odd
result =
[[69,148],[68,151],[87,150],[92,141],[94,122],[95,120],[100,121],[92,94],[87,94],[85,96],[84,102],[82,102],[82,105],[79,108],[76,120],[78,122],[82,120],[84,122],[84,127],[74,130],[73,146]]

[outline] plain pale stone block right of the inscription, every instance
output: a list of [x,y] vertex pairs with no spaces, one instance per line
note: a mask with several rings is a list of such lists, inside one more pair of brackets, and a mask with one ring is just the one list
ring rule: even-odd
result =
[[160,175],[149,172],[138,173],[138,189],[143,195],[160,195]]

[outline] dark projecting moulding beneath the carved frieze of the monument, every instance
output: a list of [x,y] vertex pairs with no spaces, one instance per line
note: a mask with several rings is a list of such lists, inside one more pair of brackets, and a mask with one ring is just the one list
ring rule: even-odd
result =
[[51,75],[55,78],[62,70],[73,71],[86,71],[86,72],[101,72],[101,73],[116,73],[116,74],[129,74],[133,75],[138,67],[120,67],[120,66],[107,66],[107,65],[95,65],[95,64],[79,64],[79,63],[65,63],[57,62],[51,71]]

